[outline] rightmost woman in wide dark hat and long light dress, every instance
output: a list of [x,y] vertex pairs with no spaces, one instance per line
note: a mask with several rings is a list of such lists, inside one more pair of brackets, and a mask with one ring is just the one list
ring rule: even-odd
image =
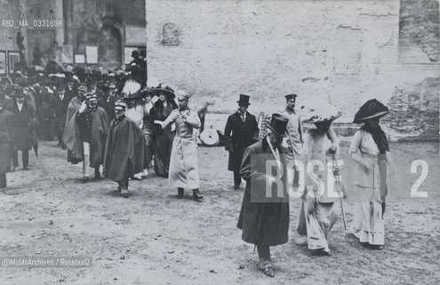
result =
[[356,162],[353,176],[357,202],[351,230],[360,242],[377,249],[383,247],[385,236],[385,162],[389,151],[387,136],[379,121],[388,112],[388,108],[376,99],[365,102],[354,120],[364,126],[356,132],[349,148],[350,157]]

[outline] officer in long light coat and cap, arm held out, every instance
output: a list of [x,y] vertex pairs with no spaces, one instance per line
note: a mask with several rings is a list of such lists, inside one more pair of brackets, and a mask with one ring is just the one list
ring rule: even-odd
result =
[[194,135],[200,127],[200,119],[195,110],[189,109],[189,98],[191,96],[187,92],[181,91],[178,96],[179,109],[172,110],[163,122],[156,120],[155,123],[162,128],[172,123],[176,125],[168,180],[178,189],[177,198],[182,198],[184,189],[188,188],[193,191],[194,199],[200,200],[204,197],[199,191],[197,143]]

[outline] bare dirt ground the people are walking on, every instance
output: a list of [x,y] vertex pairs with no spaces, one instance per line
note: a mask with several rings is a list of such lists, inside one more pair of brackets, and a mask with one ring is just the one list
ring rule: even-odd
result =
[[[130,183],[129,199],[111,181],[81,182],[81,165],[66,162],[56,142],[41,142],[31,171],[8,174],[0,192],[2,256],[92,256],[92,267],[0,269],[0,284],[439,284],[439,152],[437,143],[393,143],[400,169],[388,197],[386,244],[363,248],[341,219],[332,229],[332,256],[312,256],[298,245],[295,224],[300,201],[291,203],[289,242],[272,248],[276,277],[257,270],[253,246],[236,228],[244,189],[234,191],[223,148],[199,148],[198,203],[176,199],[176,190],[154,174]],[[347,145],[343,153],[347,152]],[[429,171],[420,176],[415,159]],[[349,194],[349,192],[348,192]],[[353,197],[345,201],[348,224]]]

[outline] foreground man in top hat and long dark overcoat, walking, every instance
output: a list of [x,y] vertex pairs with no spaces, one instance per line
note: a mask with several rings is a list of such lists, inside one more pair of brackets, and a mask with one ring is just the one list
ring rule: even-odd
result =
[[240,168],[246,189],[237,227],[242,240],[256,246],[260,270],[270,277],[275,273],[269,247],[286,243],[289,232],[288,161],[281,147],[287,123],[288,118],[273,114],[270,133],[244,151]]

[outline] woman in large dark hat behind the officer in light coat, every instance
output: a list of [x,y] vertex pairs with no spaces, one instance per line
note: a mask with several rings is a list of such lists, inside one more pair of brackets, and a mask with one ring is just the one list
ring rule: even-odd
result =
[[[159,100],[155,102],[153,108],[149,111],[152,121],[164,121],[170,116],[172,110],[179,108],[174,101],[176,96],[172,88],[168,86],[164,88],[153,88],[150,90],[150,93],[157,94],[159,97]],[[166,126],[164,129],[159,125],[154,126],[153,137],[156,175],[168,177],[174,133],[171,125]]]

